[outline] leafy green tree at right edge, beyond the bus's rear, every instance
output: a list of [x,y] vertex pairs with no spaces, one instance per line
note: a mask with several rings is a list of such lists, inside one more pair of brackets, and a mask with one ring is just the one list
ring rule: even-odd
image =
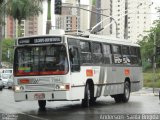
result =
[[[141,54],[142,54],[142,61],[143,67],[151,68],[153,64],[153,57],[154,57],[154,36],[156,41],[156,46],[160,46],[160,20],[154,21],[154,26],[150,31],[148,31],[148,35],[144,36],[141,41],[139,41],[139,45],[141,46]],[[156,63],[158,67],[160,66],[160,57],[156,56]]]

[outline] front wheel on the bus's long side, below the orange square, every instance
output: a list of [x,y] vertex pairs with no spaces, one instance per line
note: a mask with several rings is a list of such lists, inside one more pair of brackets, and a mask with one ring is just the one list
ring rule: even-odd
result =
[[91,98],[91,90],[89,83],[85,86],[84,99],[82,99],[82,106],[89,107],[90,106],[90,98]]

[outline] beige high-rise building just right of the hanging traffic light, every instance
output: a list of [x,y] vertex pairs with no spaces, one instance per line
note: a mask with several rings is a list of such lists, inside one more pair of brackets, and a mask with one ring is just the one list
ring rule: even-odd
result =
[[[62,7],[62,16],[65,15],[64,20],[66,20],[65,18],[68,14],[67,18],[72,20],[72,30],[79,29],[80,31],[87,31],[90,29],[91,12],[87,10],[90,10],[91,8],[91,1],[92,0],[81,0],[80,3],[78,3],[78,0],[65,0],[65,3],[63,3],[62,6],[68,6],[68,8]],[[82,9],[78,9],[78,7]],[[69,24],[70,23],[68,23],[68,26],[70,26]]]

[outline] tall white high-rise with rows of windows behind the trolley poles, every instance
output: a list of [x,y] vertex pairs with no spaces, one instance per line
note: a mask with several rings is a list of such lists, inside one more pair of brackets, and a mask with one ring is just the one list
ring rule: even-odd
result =
[[137,42],[151,27],[151,15],[147,14],[151,11],[151,0],[98,0],[97,2],[100,3],[100,13],[112,16],[110,18],[101,16],[101,20],[106,19],[101,28],[106,27],[106,29],[99,34],[117,35],[118,38]]

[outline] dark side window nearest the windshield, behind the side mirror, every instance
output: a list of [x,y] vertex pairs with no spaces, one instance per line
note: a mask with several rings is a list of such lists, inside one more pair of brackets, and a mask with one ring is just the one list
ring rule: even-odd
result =
[[80,57],[79,50],[77,47],[69,48],[69,57],[71,63],[71,71],[80,71]]

